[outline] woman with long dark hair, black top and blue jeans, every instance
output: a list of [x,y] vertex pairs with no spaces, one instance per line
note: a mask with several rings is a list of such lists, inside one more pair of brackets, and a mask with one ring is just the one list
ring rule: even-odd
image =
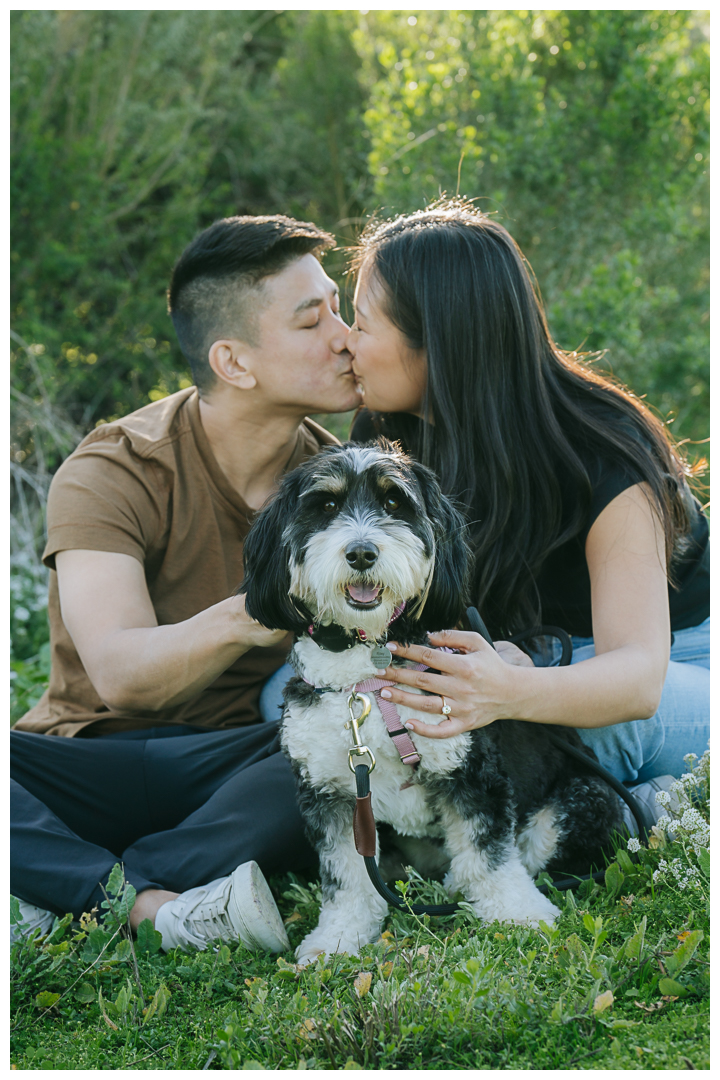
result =
[[366,408],[352,437],[399,440],[464,504],[472,598],[493,638],[542,621],[574,646],[572,666],[520,666],[446,630],[432,644],[459,654],[435,653],[437,675],[391,667],[398,687],[383,693],[449,706],[437,726],[415,721],[427,738],[502,717],[568,725],[624,782],[680,775],[709,727],[693,470],[646,405],[553,342],[518,246],[471,203],[371,226],[355,269],[348,349]]

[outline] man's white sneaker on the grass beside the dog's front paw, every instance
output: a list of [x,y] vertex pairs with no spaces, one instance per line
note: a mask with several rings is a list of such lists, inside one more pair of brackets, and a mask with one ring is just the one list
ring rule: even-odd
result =
[[204,949],[208,942],[236,942],[266,953],[290,947],[270,887],[256,862],[243,863],[227,878],[188,889],[158,909],[155,930],[168,951]]

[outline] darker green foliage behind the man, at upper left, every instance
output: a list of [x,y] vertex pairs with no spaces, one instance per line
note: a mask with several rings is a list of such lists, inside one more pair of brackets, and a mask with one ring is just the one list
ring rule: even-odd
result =
[[189,384],[165,289],[200,228],[354,212],[350,29],[325,12],[14,13],[13,323],[84,430]]

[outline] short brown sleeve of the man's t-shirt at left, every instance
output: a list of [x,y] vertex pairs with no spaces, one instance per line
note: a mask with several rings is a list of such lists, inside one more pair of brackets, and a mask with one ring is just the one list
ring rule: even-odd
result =
[[166,501],[157,467],[124,435],[81,445],[53,477],[43,563],[68,549],[119,552],[144,563],[162,528]]

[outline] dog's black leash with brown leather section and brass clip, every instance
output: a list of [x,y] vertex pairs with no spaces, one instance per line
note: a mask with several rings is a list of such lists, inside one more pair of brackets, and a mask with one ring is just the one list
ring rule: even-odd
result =
[[[487,626],[483,622],[477,608],[467,608],[466,612],[467,621],[470,623],[471,630],[475,633],[480,634],[485,640],[494,648],[492,638],[488,632]],[[559,638],[562,645],[562,656],[559,661],[559,666],[567,666],[572,659],[572,642],[569,635],[557,626],[538,626],[530,631],[525,631],[522,634],[516,634],[511,640],[514,644],[519,644],[522,640],[530,640],[533,637],[539,637],[541,635],[552,634]],[[376,680],[368,680],[376,681]],[[384,680],[378,679],[377,681]],[[359,687],[357,687],[359,690]],[[378,691],[379,692],[379,691]],[[384,701],[378,697],[378,703]],[[353,733],[354,745],[349,751],[348,759],[350,762],[350,768],[355,775],[355,787],[356,787],[356,799],[355,799],[355,810],[353,813],[353,835],[355,839],[355,848],[357,853],[363,856],[365,862],[365,868],[367,869],[368,876],[372,881],[376,890],[380,895],[392,904],[393,907],[397,907],[400,910],[410,912],[412,915],[454,915],[460,910],[460,904],[409,904],[406,900],[399,896],[394,889],[391,889],[385,881],[383,881],[380,870],[378,869],[378,864],[376,861],[376,823],[375,816],[372,814],[371,806],[371,795],[370,795],[370,773],[375,769],[375,757],[369,747],[364,746],[359,739],[359,726],[369,714],[370,704],[369,699],[365,698],[363,713],[361,716],[355,716],[353,712],[353,699],[352,694],[349,699],[350,708],[350,721],[345,727],[350,728]],[[384,714],[383,714],[384,718]],[[399,721],[399,716],[398,716]],[[388,721],[385,721],[388,723]],[[399,721],[402,724],[402,721]],[[560,748],[563,753],[568,754],[570,757],[574,757],[578,761],[581,761],[593,772],[597,773],[602,780],[608,783],[614,792],[627,804],[633,813],[635,820],[638,823],[641,837],[643,841],[647,842],[650,835],[650,829],[652,827],[652,822],[650,822],[649,814],[647,813],[644,807],[640,807],[637,800],[630,795],[624,784],[616,780],[611,772],[609,772],[603,766],[596,761],[594,758],[582,751],[576,750],[576,747],[571,746],[565,739],[557,735],[554,731],[546,731],[549,741]],[[367,766],[363,762],[355,762],[355,757],[362,757],[364,754],[369,755],[370,765]],[[633,858],[633,856],[630,856]],[[637,856],[636,856],[637,858]],[[562,878],[556,880],[552,883],[552,888],[556,889],[558,892],[566,892],[570,889],[576,889],[583,881],[601,881],[604,879],[604,870],[596,870],[593,874],[576,875],[570,878]],[[547,885],[536,885],[535,888],[539,892],[547,895],[551,886]]]

